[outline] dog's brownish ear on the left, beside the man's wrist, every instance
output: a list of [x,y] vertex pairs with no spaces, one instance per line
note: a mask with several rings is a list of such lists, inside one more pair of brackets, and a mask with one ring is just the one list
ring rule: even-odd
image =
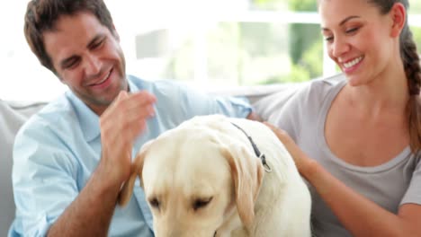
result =
[[148,152],[148,147],[152,144],[153,140],[148,141],[145,145],[142,146],[139,153],[136,155],[133,163],[131,164],[131,173],[130,178],[126,182],[124,182],[123,187],[121,188],[119,194],[119,205],[126,206],[129,203],[131,195],[133,193],[134,183],[136,181],[136,177],[139,176],[139,179],[142,179],[142,170],[143,170],[143,162],[145,161],[145,156]]

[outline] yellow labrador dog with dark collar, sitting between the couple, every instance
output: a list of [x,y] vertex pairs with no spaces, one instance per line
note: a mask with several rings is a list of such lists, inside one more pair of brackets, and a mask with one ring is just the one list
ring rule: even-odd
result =
[[309,189],[259,122],[192,118],[142,146],[132,171],[120,204],[139,176],[157,237],[311,236]]

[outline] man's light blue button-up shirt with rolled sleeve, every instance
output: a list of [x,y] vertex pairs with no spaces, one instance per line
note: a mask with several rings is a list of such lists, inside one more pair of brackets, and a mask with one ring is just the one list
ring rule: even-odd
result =
[[[212,97],[172,81],[143,81],[128,76],[130,92],[147,90],[157,97],[156,115],[135,141],[141,145],[196,115],[222,113],[245,118],[244,99]],[[22,126],[13,147],[16,218],[9,236],[44,236],[77,197],[101,159],[99,117],[73,92],[49,103]],[[98,200],[101,202],[101,200]],[[128,206],[117,206],[110,236],[154,236],[152,215],[139,180]]]

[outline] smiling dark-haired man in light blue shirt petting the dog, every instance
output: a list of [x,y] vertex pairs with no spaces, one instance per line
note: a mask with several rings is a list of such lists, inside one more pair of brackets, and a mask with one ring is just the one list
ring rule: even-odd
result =
[[127,207],[116,206],[140,146],[195,115],[254,117],[238,99],[126,75],[103,0],[32,0],[24,31],[40,63],[70,90],[16,137],[9,236],[153,236],[139,186]]

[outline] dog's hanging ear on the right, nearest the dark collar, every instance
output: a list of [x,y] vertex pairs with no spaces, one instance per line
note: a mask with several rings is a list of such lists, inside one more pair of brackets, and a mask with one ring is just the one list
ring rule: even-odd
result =
[[255,200],[264,178],[264,168],[255,154],[244,145],[222,148],[234,180],[238,215],[243,224],[250,226],[255,218]]

